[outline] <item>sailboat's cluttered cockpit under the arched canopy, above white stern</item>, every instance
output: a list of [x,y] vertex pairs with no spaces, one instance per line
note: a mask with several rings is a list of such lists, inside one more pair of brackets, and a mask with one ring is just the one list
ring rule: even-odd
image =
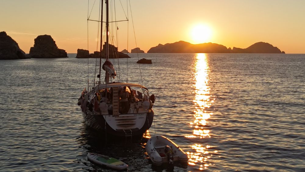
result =
[[100,84],[89,95],[88,108],[96,115],[149,113],[155,99],[144,86],[128,83]]

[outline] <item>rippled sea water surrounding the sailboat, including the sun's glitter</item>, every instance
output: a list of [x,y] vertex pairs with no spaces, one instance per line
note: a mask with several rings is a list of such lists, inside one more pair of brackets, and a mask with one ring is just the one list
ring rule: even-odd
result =
[[88,152],[121,159],[128,171],[170,171],[145,153],[155,134],[189,154],[174,171],[305,171],[305,54],[139,54],[153,62],[141,72],[132,56],[128,82],[160,91],[155,125],[126,144],[105,144],[83,122],[87,59],[0,61],[0,171],[112,171]]

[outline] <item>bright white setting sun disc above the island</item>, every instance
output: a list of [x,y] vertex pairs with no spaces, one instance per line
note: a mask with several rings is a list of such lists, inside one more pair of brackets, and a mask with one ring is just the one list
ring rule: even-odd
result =
[[212,30],[207,25],[199,24],[192,28],[191,35],[194,44],[204,43],[211,38]]

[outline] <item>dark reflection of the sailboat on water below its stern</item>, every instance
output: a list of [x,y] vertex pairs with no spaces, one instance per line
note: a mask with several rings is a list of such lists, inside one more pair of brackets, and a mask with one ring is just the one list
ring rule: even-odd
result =
[[[94,130],[85,123],[81,126],[78,134],[79,136],[76,138],[78,156],[75,163],[84,164],[87,167],[93,168],[93,171],[108,169],[107,167],[101,167],[94,163],[90,163],[87,160],[88,152],[95,152],[123,161],[128,164],[128,170],[142,171],[141,169],[146,169],[145,171],[151,171],[148,160],[143,159],[145,154],[143,145],[147,142],[147,138],[133,138],[132,143],[129,141],[122,141],[121,138],[117,137],[106,139],[99,131]],[[147,132],[144,135],[150,137]],[[87,167],[84,167],[84,169],[87,169]]]

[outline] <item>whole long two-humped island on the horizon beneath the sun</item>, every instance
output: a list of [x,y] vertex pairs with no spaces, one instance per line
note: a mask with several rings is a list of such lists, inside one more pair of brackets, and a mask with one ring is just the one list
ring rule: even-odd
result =
[[248,48],[227,48],[215,43],[191,44],[185,41],[167,43],[150,48],[147,53],[285,53],[266,42],[257,42]]

